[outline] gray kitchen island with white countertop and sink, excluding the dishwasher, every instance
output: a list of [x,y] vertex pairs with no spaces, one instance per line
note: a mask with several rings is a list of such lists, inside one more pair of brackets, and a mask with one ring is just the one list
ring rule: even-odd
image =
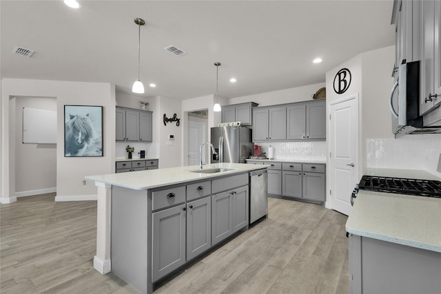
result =
[[85,177],[98,187],[94,268],[152,293],[155,282],[248,229],[248,173],[258,169],[266,167],[218,163]]

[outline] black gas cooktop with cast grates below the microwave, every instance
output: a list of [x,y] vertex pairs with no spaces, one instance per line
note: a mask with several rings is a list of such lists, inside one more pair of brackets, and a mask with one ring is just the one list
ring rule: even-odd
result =
[[441,198],[441,181],[362,176],[358,189]]

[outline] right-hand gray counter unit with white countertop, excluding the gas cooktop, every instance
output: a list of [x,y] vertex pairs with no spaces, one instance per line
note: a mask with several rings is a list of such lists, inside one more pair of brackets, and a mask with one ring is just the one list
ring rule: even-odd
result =
[[[425,171],[365,174],[440,180]],[[349,293],[441,293],[441,198],[360,190],[354,202]]]

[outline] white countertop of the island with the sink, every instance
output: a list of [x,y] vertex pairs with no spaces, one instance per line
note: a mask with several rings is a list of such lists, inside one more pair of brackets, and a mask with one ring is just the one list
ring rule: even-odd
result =
[[165,187],[168,185],[181,184],[183,182],[191,182],[193,180],[211,180],[212,178],[217,178],[219,176],[242,174],[248,171],[266,169],[267,167],[265,167],[264,165],[247,165],[245,163],[225,162],[203,166],[203,169],[212,168],[223,168],[232,170],[221,171],[214,174],[201,174],[198,172],[192,172],[199,169],[198,165],[192,165],[187,167],[170,167],[165,169],[151,169],[146,171],[131,171],[128,173],[120,174],[86,176],[85,179],[134,190],[145,190],[157,187]]

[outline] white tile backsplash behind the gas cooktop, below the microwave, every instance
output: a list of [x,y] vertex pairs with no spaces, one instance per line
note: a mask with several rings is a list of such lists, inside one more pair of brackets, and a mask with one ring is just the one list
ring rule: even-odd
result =
[[367,167],[424,169],[437,173],[441,135],[407,135],[397,139],[367,140]]

